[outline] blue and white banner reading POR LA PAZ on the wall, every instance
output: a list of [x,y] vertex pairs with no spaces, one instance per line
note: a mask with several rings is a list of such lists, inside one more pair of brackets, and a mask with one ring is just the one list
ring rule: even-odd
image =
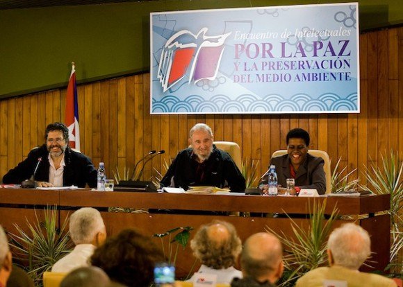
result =
[[151,114],[359,112],[358,3],[151,13]]

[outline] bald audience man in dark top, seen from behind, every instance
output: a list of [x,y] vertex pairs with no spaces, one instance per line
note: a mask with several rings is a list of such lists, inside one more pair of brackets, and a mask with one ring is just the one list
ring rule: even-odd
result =
[[231,287],[273,287],[283,274],[283,247],[279,238],[267,232],[253,234],[245,241],[240,266],[243,279]]

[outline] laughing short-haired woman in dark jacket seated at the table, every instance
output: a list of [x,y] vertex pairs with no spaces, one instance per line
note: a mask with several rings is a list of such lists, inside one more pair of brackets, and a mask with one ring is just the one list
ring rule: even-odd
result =
[[[326,192],[326,175],[324,174],[322,157],[309,154],[309,133],[302,128],[290,130],[286,137],[287,154],[273,157],[270,165],[276,166],[277,181],[286,188],[287,178],[295,179],[295,189],[316,189],[319,194]],[[260,185],[263,193],[268,192],[268,175],[264,175]]]

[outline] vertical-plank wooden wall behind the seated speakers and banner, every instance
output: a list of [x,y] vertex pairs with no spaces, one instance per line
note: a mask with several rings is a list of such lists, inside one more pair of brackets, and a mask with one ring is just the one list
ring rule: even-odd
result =
[[[188,146],[188,131],[198,122],[211,125],[215,140],[236,141],[242,157],[258,160],[260,173],[270,155],[286,148],[286,133],[301,127],[311,134],[311,148],[327,150],[332,167],[342,158],[347,171],[393,148],[403,150],[403,28],[360,36],[361,112],[359,114],[150,115],[149,74],[126,76],[78,87],[81,151],[106,171],[133,171],[149,150],[166,153],[150,161],[145,179],[165,172],[164,162]],[[64,121],[66,89],[0,101],[0,172],[20,162],[42,144],[47,123]],[[403,157],[403,153],[400,155]],[[361,176],[361,182],[365,179]]]

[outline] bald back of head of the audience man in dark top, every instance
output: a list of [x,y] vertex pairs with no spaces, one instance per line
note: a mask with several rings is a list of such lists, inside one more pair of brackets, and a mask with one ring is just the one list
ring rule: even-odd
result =
[[268,232],[253,234],[245,241],[240,256],[244,277],[258,281],[274,277],[281,265],[282,256],[283,247],[279,238]]

